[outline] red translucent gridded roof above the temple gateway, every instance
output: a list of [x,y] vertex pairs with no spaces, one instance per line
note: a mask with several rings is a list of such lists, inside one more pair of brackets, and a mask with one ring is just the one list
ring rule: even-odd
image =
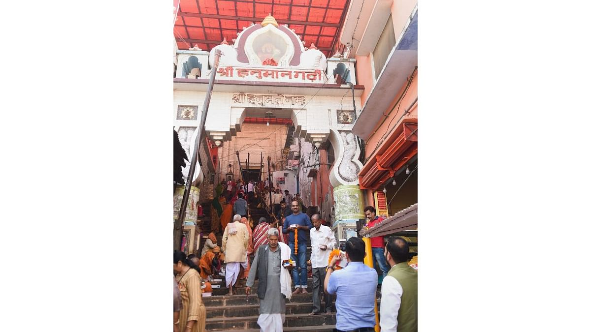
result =
[[[340,47],[337,37],[350,0],[180,0],[174,37],[180,50],[199,45],[210,51],[222,43],[232,44],[243,27],[256,24],[269,14],[278,24],[312,43],[326,57]],[[175,4],[177,1],[175,1]]]

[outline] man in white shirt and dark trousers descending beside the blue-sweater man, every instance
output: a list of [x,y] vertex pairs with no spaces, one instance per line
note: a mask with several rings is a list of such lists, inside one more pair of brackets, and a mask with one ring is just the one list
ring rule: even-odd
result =
[[320,289],[324,293],[326,313],[332,313],[332,295],[324,291],[324,278],[326,277],[326,266],[329,265],[330,251],[335,248],[336,239],[330,227],[324,226],[320,221],[320,215],[312,216],[314,227],[310,229],[310,245],[312,253],[312,312],[310,315],[320,314]]

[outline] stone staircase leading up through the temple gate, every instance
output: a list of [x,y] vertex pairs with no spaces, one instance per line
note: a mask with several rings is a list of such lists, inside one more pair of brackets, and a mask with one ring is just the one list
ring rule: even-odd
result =
[[[307,248],[306,256],[310,259],[311,248]],[[220,285],[220,288],[213,288],[211,297],[204,297],[203,302],[207,310],[206,330],[207,331],[259,331],[256,324],[259,315],[259,298],[256,294],[248,297],[245,295],[245,288],[235,288],[235,295],[229,296],[228,288],[225,287],[225,278],[221,282],[213,282],[212,285]],[[252,289],[256,292],[258,280],[255,281]],[[321,302],[322,314],[309,316],[312,311],[312,278],[308,278],[309,294],[294,294],[291,301],[285,302],[285,323],[284,331],[316,331],[329,332],[335,328],[336,313],[324,313],[324,301]],[[381,287],[378,285],[376,292],[381,298]],[[333,299],[333,301],[335,301]]]

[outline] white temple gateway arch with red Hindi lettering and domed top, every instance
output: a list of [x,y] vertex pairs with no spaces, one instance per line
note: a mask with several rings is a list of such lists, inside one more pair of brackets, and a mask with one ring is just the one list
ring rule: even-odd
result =
[[[214,54],[220,50],[205,135],[223,147],[241,132],[245,118],[263,118],[271,112],[291,119],[294,136],[313,149],[330,145],[334,165],[329,166],[329,179],[335,204],[322,209],[334,208],[333,230],[340,240],[349,237],[356,222],[365,219],[358,179],[363,167],[360,141],[351,132],[359,116],[353,98],[359,107],[363,92],[362,86],[356,86],[355,60],[326,58],[271,15],[261,24],[244,27],[232,42],[224,40],[211,52],[177,50],[172,113],[181,144],[193,152]],[[222,174],[226,166],[221,165]],[[197,167],[194,178],[203,181],[200,172]]]

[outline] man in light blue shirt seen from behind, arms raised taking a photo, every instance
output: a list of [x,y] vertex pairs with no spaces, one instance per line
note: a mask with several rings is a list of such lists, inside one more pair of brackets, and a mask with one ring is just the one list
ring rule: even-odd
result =
[[365,242],[351,237],[345,244],[347,266],[335,271],[342,257],[330,261],[324,279],[324,289],[336,296],[337,331],[374,331],[375,292],[378,287],[378,272],[363,264]]

